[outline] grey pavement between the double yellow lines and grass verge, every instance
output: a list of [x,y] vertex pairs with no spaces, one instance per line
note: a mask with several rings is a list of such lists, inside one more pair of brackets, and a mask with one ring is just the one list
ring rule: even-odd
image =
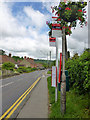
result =
[[31,92],[30,98],[23,106],[17,118],[48,118],[48,87],[47,74]]

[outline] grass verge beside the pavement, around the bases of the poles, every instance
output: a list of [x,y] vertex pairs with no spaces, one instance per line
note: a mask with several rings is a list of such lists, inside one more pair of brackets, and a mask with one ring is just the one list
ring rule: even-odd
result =
[[77,95],[73,90],[66,93],[66,114],[62,116],[60,112],[60,91],[58,101],[55,103],[55,88],[51,87],[51,77],[47,78],[49,90],[49,118],[89,118],[87,95]]

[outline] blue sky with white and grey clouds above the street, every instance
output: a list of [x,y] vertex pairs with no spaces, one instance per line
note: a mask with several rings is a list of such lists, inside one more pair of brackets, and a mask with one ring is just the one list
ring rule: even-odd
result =
[[[52,59],[55,59],[56,48],[49,46],[46,21],[51,21],[53,16],[51,6],[58,4],[58,0],[1,0],[0,49],[12,56],[34,59],[47,59],[47,54],[50,59],[51,51]],[[58,46],[60,53],[62,38],[58,38]],[[77,25],[72,29],[72,35],[67,36],[67,48],[71,56],[88,48],[88,25],[83,28]]]

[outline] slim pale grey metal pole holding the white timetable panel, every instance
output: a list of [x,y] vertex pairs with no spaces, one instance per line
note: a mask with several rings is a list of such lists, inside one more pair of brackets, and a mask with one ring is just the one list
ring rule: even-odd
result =
[[[58,81],[58,38],[56,38],[56,69],[57,69],[57,81]],[[57,83],[56,81],[56,83]],[[55,102],[57,102],[57,98],[58,98],[58,90],[57,90],[57,86],[55,88]]]

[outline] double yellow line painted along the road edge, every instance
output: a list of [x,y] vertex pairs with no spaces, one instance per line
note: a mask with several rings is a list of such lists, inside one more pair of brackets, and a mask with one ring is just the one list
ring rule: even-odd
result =
[[26,98],[26,96],[31,92],[31,90],[35,87],[38,81],[41,79],[39,77],[19,98],[18,100],[0,117],[0,120],[4,118],[10,118],[13,112],[17,109],[17,107],[21,104],[21,102]]

